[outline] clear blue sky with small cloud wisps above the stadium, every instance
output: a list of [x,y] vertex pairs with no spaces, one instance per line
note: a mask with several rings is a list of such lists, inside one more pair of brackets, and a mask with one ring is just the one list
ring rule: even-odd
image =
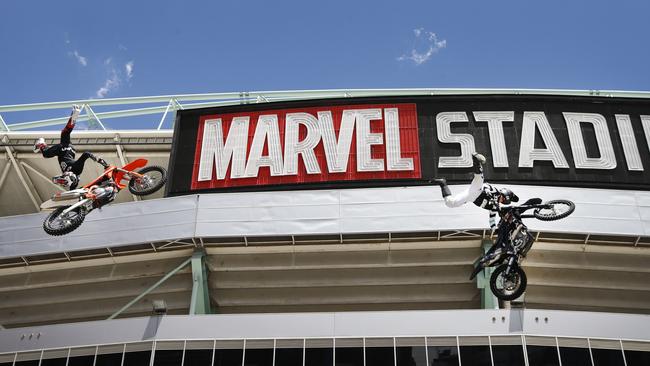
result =
[[650,1],[4,1],[0,105],[225,91],[650,90]]

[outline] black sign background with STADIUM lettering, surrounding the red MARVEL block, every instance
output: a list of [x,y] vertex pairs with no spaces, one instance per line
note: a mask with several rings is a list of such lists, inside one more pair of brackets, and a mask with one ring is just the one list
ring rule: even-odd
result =
[[[314,107],[327,110],[336,106],[363,108],[363,105],[404,104],[415,104],[417,111],[418,179],[328,181],[207,190],[191,188],[193,172],[196,175],[199,164],[200,146],[197,146],[197,140],[202,117],[295,111],[301,108],[311,111]],[[510,117],[511,120],[507,120]],[[318,116],[314,115],[314,118]],[[501,122],[490,124],[487,122],[489,118],[501,118]],[[447,126],[446,132],[441,131],[441,128],[444,130],[443,125]],[[500,129],[498,126],[501,126]],[[228,130],[224,127],[223,131],[223,138],[227,139]],[[250,134],[252,136],[252,130]],[[473,140],[471,144],[467,136]],[[434,177],[445,177],[451,183],[467,183],[471,173],[467,164],[469,146],[487,157],[484,167],[486,180],[494,183],[648,190],[649,138],[650,100],[632,98],[505,95],[377,97],[183,110],[178,112],[175,124],[167,193],[179,195],[204,191],[409,185],[421,184]],[[319,148],[323,143],[319,142]],[[250,150],[250,146],[247,148]],[[265,145],[265,152],[267,150],[268,146]],[[377,156],[375,147],[372,154],[373,157]],[[450,157],[456,159],[445,162]],[[304,169],[304,161],[298,159],[298,164]],[[232,166],[228,169],[232,174]],[[325,170],[327,166],[321,166],[321,169]]]

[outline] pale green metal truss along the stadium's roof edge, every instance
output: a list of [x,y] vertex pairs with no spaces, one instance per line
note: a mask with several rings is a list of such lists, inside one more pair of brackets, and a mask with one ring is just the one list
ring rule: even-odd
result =
[[[12,112],[47,111],[69,108],[72,104],[81,105],[83,111],[78,121],[89,121],[91,127],[106,130],[107,120],[134,116],[155,116],[150,129],[161,130],[167,115],[171,112],[188,108],[228,106],[239,104],[270,103],[291,100],[389,97],[416,95],[565,95],[591,97],[650,98],[650,92],[601,91],[601,90],[554,90],[554,89],[333,89],[333,90],[296,90],[296,91],[254,91],[227,92],[207,94],[179,94],[132,98],[108,98],[70,100],[51,103],[32,103],[0,106],[0,131],[24,131],[42,129],[66,123],[67,117],[22,120],[7,122],[7,115]],[[150,107],[141,107],[151,105]],[[133,108],[138,106],[138,108]],[[132,107],[132,108],[129,108]],[[109,109],[95,112],[96,108]],[[4,119],[3,119],[4,116]],[[173,123],[174,118],[172,118]]]

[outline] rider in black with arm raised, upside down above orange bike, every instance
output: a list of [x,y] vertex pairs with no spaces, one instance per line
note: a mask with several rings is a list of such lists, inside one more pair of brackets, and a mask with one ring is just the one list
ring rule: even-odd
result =
[[68,123],[61,130],[61,142],[52,146],[47,146],[44,138],[39,138],[34,144],[34,152],[42,153],[45,158],[57,157],[59,160],[59,166],[61,167],[61,172],[63,173],[60,176],[54,177],[54,183],[62,185],[68,189],[75,189],[79,184],[79,175],[83,172],[84,164],[87,159],[92,159],[93,161],[98,162],[104,168],[108,166],[106,161],[102,158],[98,158],[92,153],[86,151],[79,159],[75,160],[75,151],[70,143],[70,133],[75,126],[75,121],[79,116],[81,108],[77,105],[72,106],[72,113],[70,114],[70,119]]

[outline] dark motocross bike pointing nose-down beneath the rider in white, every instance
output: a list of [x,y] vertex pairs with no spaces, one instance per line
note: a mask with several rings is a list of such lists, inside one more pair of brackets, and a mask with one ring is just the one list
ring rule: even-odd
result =
[[[532,214],[524,214],[534,210]],[[553,221],[569,216],[575,204],[568,200],[553,200],[542,203],[540,198],[531,198],[519,206],[504,206],[499,210],[501,221],[497,228],[495,244],[474,265],[470,280],[486,267],[498,266],[490,277],[492,293],[503,301],[518,298],[526,290],[526,273],[520,262],[526,257],[535,241],[523,219],[537,218]]]

